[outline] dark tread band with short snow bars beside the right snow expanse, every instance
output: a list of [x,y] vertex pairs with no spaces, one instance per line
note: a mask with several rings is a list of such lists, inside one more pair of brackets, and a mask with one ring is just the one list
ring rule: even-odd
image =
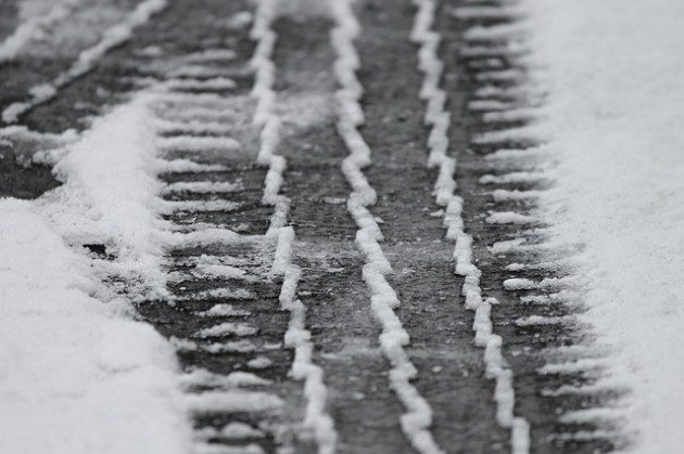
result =
[[534,122],[545,93],[525,62],[524,14],[503,1],[455,3],[444,12],[447,70],[464,74],[446,87],[468,92],[452,108],[468,129],[470,153],[457,169],[463,191],[472,194],[464,219],[477,239],[482,286],[499,301],[492,320],[516,371],[516,410],[531,424],[532,451],[611,451],[619,423],[604,408],[622,391],[596,386],[607,352],[574,322],[582,302],[573,251],[547,238],[536,209],[536,197],[553,184],[544,173],[553,161]]

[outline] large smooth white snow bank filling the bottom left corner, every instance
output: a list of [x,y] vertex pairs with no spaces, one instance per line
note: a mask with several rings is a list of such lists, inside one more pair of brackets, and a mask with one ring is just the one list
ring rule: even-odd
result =
[[173,349],[92,297],[89,261],[0,199],[0,453],[186,453]]

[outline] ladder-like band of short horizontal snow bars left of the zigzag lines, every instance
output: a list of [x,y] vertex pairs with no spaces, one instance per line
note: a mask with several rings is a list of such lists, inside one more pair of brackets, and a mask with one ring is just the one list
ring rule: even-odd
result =
[[[244,39],[246,35],[245,30]],[[212,59],[211,69],[227,76],[235,67],[235,53],[218,51],[216,55],[230,57]],[[249,72],[246,62],[238,64]],[[174,80],[153,80],[147,90],[149,112],[155,117],[151,118],[156,128],[155,170],[166,183],[160,187],[164,199],[159,211],[168,228],[163,235],[168,295],[140,311],[152,323],[156,317],[165,321],[159,328],[170,338],[186,371],[185,403],[195,424],[192,452],[262,454],[287,444],[273,424],[280,424],[288,405],[279,395],[281,387],[266,378],[279,377],[279,359],[288,356],[276,340],[281,339],[281,316],[273,309],[277,283],[268,273],[273,244],[258,230],[268,215],[253,199],[261,181],[255,189],[245,187],[243,181],[250,178],[253,185],[254,173],[263,172],[243,168],[245,131],[233,122],[210,125],[220,128],[220,133],[207,138],[200,119],[191,115],[191,127],[180,131],[163,119],[168,109],[219,114],[242,106],[249,98],[232,89],[219,95],[211,83],[178,92],[169,83]],[[228,118],[233,119],[239,117]],[[236,367],[253,372],[232,372]]]

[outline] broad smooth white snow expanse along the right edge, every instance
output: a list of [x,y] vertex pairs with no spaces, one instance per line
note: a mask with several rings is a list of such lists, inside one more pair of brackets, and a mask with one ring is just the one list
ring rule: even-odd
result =
[[[586,249],[583,315],[618,348],[639,453],[684,445],[684,3],[525,0],[560,164],[542,200]],[[560,209],[562,208],[562,209]]]

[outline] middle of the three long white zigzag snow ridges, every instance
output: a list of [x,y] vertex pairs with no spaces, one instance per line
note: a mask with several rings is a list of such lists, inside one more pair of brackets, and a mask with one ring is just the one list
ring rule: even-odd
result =
[[389,374],[390,387],[406,408],[406,413],[401,416],[401,425],[411,445],[420,453],[443,453],[429,430],[432,425],[432,410],[410,382],[418,373],[404,350],[410,339],[394,312],[400,300],[385,277],[392,272],[392,267],[379,244],[383,236],[378,222],[368,210],[376,203],[377,195],[362,170],[371,164],[371,152],[357,129],[364,122],[364,112],[359,103],[363,87],[356,78],[360,62],[354,46],[360,26],[351,0],[333,0],[329,4],[335,22],[330,37],[338,55],[333,72],[340,86],[335,92],[339,104],[337,127],[350,151],[342,163],[342,172],[352,186],[347,210],[359,228],[355,244],[366,258],[363,276],[371,293],[373,314],[382,325],[379,340],[381,350],[392,366]]

